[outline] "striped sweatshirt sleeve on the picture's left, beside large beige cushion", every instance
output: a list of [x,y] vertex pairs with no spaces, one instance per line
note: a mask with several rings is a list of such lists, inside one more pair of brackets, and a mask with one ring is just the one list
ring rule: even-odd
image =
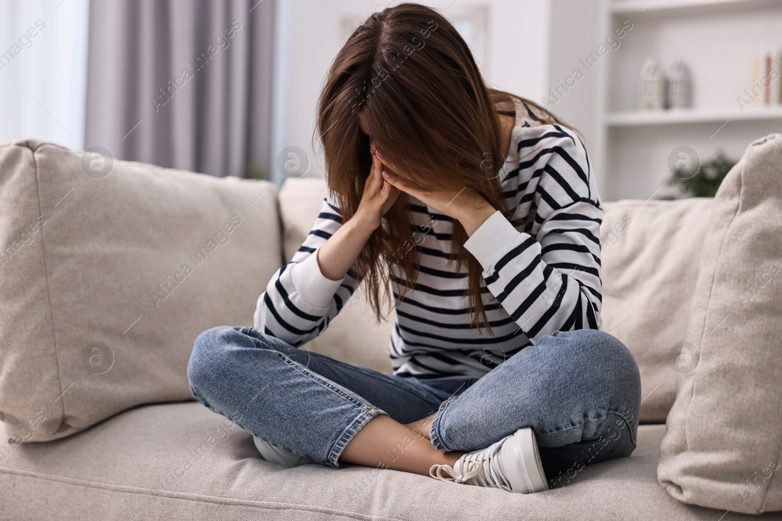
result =
[[350,271],[340,280],[330,280],[317,262],[317,250],[339,230],[342,222],[339,208],[324,198],[307,238],[258,297],[256,330],[299,346],[321,334],[343,309],[357,280]]

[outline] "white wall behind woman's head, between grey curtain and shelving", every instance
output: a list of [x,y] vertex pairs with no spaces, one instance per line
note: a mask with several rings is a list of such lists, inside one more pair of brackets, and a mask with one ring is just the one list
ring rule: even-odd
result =
[[[313,152],[315,108],[328,67],[344,43],[343,24],[355,25],[372,12],[399,2],[369,0],[279,0],[275,49],[272,134],[273,179],[281,180],[274,159],[289,146],[310,155],[309,174],[323,175],[322,159]],[[547,89],[551,0],[443,0],[421,2],[460,12],[474,5],[488,8],[486,62],[480,64],[490,86],[540,99]],[[347,20],[347,21],[346,21]],[[480,62],[480,60],[478,60]]]

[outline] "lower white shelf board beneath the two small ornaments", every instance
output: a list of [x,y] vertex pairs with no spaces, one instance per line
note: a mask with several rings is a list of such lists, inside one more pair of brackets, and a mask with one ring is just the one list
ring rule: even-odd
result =
[[638,110],[609,112],[608,127],[636,127],[638,125],[676,125],[680,123],[725,123],[726,121],[782,120],[782,106],[749,107],[738,110]]

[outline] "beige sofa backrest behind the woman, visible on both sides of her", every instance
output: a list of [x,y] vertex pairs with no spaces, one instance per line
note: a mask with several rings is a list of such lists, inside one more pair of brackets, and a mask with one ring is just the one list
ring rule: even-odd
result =
[[[324,180],[286,180],[280,191],[285,258],[307,237],[326,195]],[[640,422],[664,423],[676,394],[668,361],[683,340],[687,309],[711,198],[604,203],[601,227],[603,327],[638,361],[644,401]],[[389,372],[388,339],[394,315],[378,326],[361,291],[307,348]]]

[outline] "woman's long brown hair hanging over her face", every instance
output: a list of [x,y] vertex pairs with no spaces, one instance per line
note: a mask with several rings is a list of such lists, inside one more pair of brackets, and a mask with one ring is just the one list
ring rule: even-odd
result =
[[[512,96],[486,87],[468,45],[436,10],[404,3],[369,16],[337,54],[318,101],[326,181],[343,219],[350,219],[361,202],[371,170],[371,136],[384,166],[411,186],[473,191],[511,223],[521,223],[507,207],[497,180],[504,151],[495,104]],[[534,107],[543,123],[564,124],[540,105],[516,98]],[[400,194],[384,223],[371,234],[351,272],[367,283],[378,320],[381,286],[388,287],[391,259],[400,248],[406,253],[395,263],[406,285],[398,301],[418,278],[418,252],[410,248],[416,230],[406,194]],[[455,270],[464,273],[467,268],[471,327],[490,333],[482,266],[464,247],[467,238],[454,219],[451,259]]]

